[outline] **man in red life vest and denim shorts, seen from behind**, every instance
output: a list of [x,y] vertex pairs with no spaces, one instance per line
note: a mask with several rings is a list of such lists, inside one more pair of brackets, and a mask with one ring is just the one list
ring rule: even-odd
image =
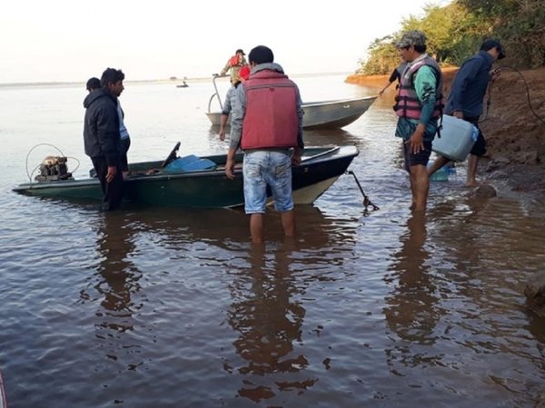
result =
[[278,63],[273,63],[270,48],[258,45],[249,59],[252,73],[236,88],[231,111],[225,174],[234,179],[234,154],[241,147],[244,209],[250,214],[253,243],[262,244],[267,186],[272,190],[275,209],[281,212],[284,235],[294,234],[292,163],[301,162],[303,112],[299,88]]

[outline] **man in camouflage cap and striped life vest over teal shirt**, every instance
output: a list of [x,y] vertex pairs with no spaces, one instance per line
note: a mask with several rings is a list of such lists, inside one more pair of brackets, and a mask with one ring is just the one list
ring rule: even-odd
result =
[[426,209],[430,179],[426,170],[431,141],[442,108],[442,76],[437,62],[426,53],[426,35],[411,30],[396,44],[407,62],[401,74],[394,111],[399,116],[395,135],[403,139],[405,170],[410,174],[411,209]]

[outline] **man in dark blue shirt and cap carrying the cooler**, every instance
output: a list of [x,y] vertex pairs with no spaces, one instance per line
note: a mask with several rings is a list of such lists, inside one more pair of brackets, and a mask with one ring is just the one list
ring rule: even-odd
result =
[[[477,186],[477,165],[479,159],[486,153],[486,141],[479,129],[479,118],[482,114],[482,101],[490,82],[499,75],[499,71],[492,71],[492,63],[505,58],[500,42],[486,40],[481,44],[479,53],[471,56],[461,64],[460,71],[451,84],[451,93],[445,106],[445,113],[473,123],[479,130],[477,141],[473,145],[468,159],[466,186]],[[438,157],[430,170],[429,175],[441,169],[449,160]]]

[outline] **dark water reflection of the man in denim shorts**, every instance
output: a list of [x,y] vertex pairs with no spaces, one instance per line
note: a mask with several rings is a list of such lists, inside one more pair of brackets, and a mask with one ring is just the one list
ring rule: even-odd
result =
[[[302,342],[305,310],[292,300],[298,289],[293,284],[292,259],[286,245],[272,254],[253,248],[251,267],[231,286],[235,301],[228,322],[239,334],[233,342],[237,354],[246,360],[245,365],[235,367],[244,375],[239,394],[254,402],[272,398],[277,391],[302,392],[317,381],[302,380],[300,375],[292,380],[287,375],[300,372],[309,362],[293,349],[293,342]],[[267,374],[283,374],[283,380],[271,384]]]

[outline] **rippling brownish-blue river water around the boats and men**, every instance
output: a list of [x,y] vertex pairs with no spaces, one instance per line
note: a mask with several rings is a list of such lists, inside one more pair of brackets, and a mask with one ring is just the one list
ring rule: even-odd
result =
[[[376,92],[294,79],[307,102]],[[188,83],[125,83],[131,161],[176,141],[180,154],[226,150],[204,114],[212,82]],[[76,177],[90,169],[84,96],[83,83],[0,88],[10,407],[532,406],[545,320],[522,292],[545,265],[545,202],[467,197],[460,166],[412,215],[387,95],[342,130],[305,133],[360,149],[349,170],[380,209],[366,213],[344,175],[296,209],[292,242],[273,213],[258,249],[241,210],[104,214],[12,192],[57,150]]]

